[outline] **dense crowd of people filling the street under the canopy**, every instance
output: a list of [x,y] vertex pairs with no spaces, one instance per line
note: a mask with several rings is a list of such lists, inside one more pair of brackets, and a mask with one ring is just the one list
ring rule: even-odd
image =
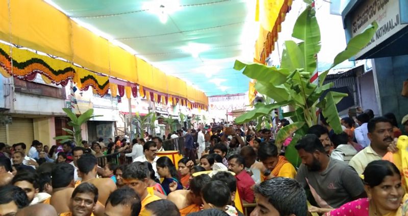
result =
[[[34,140],[29,151],[0,143],[0,215],[243,215],[243,206],[252,216],[408,215],[405,174],[392,160],[403,134],[395,116],[367,110],[341,123],[336,134],[321,118],[293,146],[293,134],[274,141],[287,119],[275,129],[183,128],[168,136],[184,139],[176,164],[157,155],[163,139],[149,134],[50,149]],[[401,124],[408,133],[408,115]],[[292,147],[298,167],[285,157]],[[133,162],[101,167],[103,151]]]

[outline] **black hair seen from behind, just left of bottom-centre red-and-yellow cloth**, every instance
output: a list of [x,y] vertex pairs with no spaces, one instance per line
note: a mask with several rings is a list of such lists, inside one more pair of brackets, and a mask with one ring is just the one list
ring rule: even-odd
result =
[[218,180],[210,181],[201,189],[202,199],[216,207],[224,207],[231,202],[231,191],[228,186]]

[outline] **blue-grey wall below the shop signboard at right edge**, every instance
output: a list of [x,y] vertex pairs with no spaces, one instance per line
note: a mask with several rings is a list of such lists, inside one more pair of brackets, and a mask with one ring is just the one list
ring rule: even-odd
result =
[[408,79],[408,55],[374,59],[381,114],[392,112],[400,124],[408,114],[408,98],[401,96],[403,81]]

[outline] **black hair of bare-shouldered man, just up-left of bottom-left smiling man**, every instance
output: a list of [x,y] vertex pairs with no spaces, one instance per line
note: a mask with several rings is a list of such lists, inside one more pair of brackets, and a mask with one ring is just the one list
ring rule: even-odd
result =
[[57,163],[51,172],[53,188],[66,187],[73,180],[74,167],[69,163]]

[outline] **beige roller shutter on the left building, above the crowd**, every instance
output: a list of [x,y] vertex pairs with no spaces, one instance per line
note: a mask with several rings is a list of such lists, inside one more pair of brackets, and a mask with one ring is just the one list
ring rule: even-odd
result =
[[24,142],[27,150],[30,149],[34,140],[34,127],[32,118],[13,118],[12,124],[8,125],[9,145]]

